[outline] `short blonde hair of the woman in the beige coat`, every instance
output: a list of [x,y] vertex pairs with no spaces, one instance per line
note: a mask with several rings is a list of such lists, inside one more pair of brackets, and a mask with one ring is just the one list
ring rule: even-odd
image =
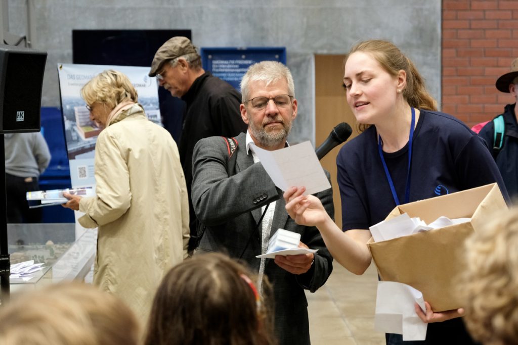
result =
[[109,109],[117,107],[124,100],[138,102],[137,90],[126,74],[108,69],[97,74],[81,88],[81,97],[89,107],[103,103]]

